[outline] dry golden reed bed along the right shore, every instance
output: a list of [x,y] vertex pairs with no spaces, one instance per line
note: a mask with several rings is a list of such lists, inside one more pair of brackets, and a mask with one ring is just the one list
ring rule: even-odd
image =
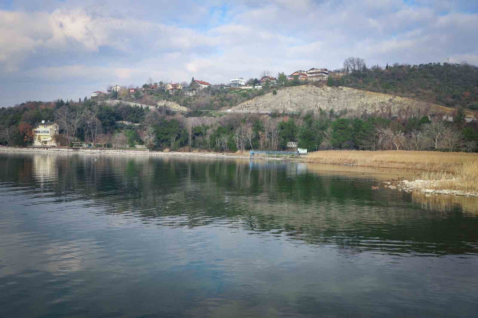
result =
[[313,163],[423,170],[422,180],[438,180],[432,189],[478,191],[478,153],[326,150],[312,152],[303,160]]

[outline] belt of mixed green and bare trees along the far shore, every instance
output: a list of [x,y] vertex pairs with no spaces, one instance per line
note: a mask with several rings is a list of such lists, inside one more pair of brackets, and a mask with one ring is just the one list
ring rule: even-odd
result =
[[[185,114],[187,115],[187,114]],[[190,114],[191,115],[191,114]],[[181,116],[163,107],[143,109],[95,100],[28,102],[0,109],[0,142],[28,146],[32,128],[42,119],[60,125],[58,143],[82,140],[94,147],[134,147],[157,150],[245,151],[286,149],[288,141],[309,151],[320,149],[408,149],[477,151],[477,121],[467,123],[463,109],[453,122],[441,117],[354,117],[347,112],[319,109],[303,114],[226,114],[222,117]],[[139,126],[115,124],[130,121]],[[126,146],[125,146],[126,145]]]

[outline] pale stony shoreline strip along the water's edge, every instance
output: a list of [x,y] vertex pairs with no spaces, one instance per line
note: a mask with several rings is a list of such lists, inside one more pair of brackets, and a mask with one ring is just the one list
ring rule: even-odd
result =
[[[151,150],[139,150],[139,149],[106,149],[106,148],[10,148],[10,147],[1,147],[0,152],[10,152],[10,153],[82,153],[82,154],[108,154],[108,155],[148,155],[148,156],[161,156],[161,157],[189,157],[189,158],[216,158],[216,159],[250,159],[249,156],[237,153],[218,153],[218,152],[179,152],[179,151],[151,151]],[[296,161],[303,163],[312,163],[320,164],[321,162],[312,162],[306,158],[302,159],[292,159],[289,157],[279,157],[279,158],[260,158],[256,157],[254,159],[266,159],[266,160],[276,160],[276,161]],[[332,164],[339,166],[354,166],[354,167],[368,167],[368,168],[392,168],[390,165],[384,164],[383,166],[370,167],[368,165],[360,164],[344,164],[342,162],[322,162],[322,164]],[[393,167],[394,169],[400,169],[400,167]],[[423,169],[417,169],[423,170]],[[423,170],[424,171],[424,170]],[[424,193],[425,195],[431,194],[441,194],[445,196],[456,195],[464,197],[478,197],[478,191],[461,191],[461,190],[450,190],[450,189],[433,189],[436,186],[439,186],[440,182],[447,182],[452,180],[397,180],[391,184],[391,182],[386,183],[384,186],[390,190],[398,190],[405,192],[419,192]],[[456,180],[453,180],[456,181]]]

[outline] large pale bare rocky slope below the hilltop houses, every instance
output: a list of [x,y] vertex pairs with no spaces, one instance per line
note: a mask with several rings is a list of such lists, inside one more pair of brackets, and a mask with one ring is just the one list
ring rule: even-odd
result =
[[316,87],[302,85],[285,87],[262,96],[254,97],[231,108],[232,111],[250,112],[304,112],[343,109],[377,115],[419,116],[428,112],[450,113],[453,109],[399,96],[360,91],[350,87]]

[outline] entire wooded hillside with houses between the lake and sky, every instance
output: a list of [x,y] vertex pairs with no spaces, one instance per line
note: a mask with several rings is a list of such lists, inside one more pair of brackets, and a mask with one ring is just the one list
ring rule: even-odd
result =
[[110,85],[82,100],[26,102],[0,110],[8,146],[150,148],[235,152],[478,150],[478,69],[468,64],[234,77],[228,84]]

